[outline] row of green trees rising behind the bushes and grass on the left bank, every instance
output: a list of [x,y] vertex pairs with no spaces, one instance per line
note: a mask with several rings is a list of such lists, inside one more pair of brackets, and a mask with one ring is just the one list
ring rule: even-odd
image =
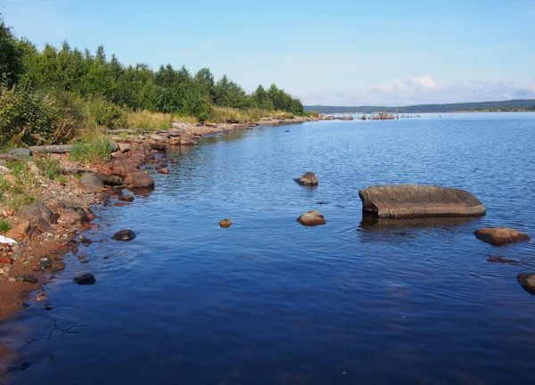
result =
[[[200,121],[210,120],[214,107],[307,114],[298,98],[275,84],[267,89],[260,85],[247,93],[226,75],[216,80],[207,68],[193,74],[184,66],[176,69],[171,64],[158,70],[145,63],[125,65],[114,54],[109,57],[103,45],[95,53],[71,48],[67,41],[60,48],[47,44],[38,50],[28,39],[14,36],[1,14],[0,73],[4,99],[4,103],[0,100],[0,118],[7,105],[5,98],[15,98],[17,92],[21,96],[23,91],[55,102],[96,100],[109,110],[173,113]],[[9,92],[12,94],[6,96]],[[10,113],[14,119],[13,111]]]

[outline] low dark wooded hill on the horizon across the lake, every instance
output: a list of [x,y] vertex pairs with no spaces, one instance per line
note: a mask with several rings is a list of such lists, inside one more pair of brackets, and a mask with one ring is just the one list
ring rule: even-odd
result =
[[535,111],[535,99],[515,99],[502,102],[462,102],[449,104],[419,104],[411,106],[305,106],[306,111],[330,113],[372,113],[377,111],[399,113],[452,112],[452,111]]

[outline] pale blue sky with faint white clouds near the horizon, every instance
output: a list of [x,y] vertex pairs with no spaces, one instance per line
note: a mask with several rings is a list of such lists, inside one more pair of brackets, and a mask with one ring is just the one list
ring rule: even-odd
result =
[[535,98],[533,0],[0,0],[18,37],[208,67],[306,105]]

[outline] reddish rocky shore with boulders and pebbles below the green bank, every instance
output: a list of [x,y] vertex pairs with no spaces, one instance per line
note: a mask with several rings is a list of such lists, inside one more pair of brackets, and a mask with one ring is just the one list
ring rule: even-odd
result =
[[[320,118],[321,119],[321,118]],[[100,166],[81,165],[70,160],[70,146],[34,148],[30,152],[18,151],[9,155],[0,154],[0,160],[22,160],[36,176],[41,186],[39,201],[17,211],[0,203],[0,216],[9,220],[11,229],[0,241],[12,239],[15,244],[0,243],[0,322],[17,315],[33,298],[47,303],[44,285],[53,274],[60,272],[68,259],[68,252],[77,253],[78,248],[89,241],[95,213],[92,207],[101,204],[122,205],[133,201],[133,194],[143,189],[152,189],[154,181],[144,164],[151,161],[161,174],[168,174],[166,152],[169,146],[195,145],[204,135],[228,133],[252,129],[259,125],[283,125],[320,119],[266,119],[246,124],[191,124],[174,123],[166,131],[143,132],[138,130],[107,131],[116,144],[111,161]],[[37,168],[36,160],[42,152],[59,160],[62,171],[76,175],[66,183],[47,178]],[[10,171],[1,166],[4,176],[10,181]],[[79,176],[79,177],[78,177]],[[100,226],[100,225],[98,225]],[[112,235],[112,234],[110,234]],[[86,238],[87,236],[87,238]]]

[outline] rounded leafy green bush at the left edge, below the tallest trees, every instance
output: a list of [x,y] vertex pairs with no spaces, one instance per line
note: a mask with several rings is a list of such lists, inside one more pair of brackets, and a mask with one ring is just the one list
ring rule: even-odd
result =
[[7,88],[0,95],[0,144],[32,145],[50,141],[55,131],[53,111],[28,83]]

